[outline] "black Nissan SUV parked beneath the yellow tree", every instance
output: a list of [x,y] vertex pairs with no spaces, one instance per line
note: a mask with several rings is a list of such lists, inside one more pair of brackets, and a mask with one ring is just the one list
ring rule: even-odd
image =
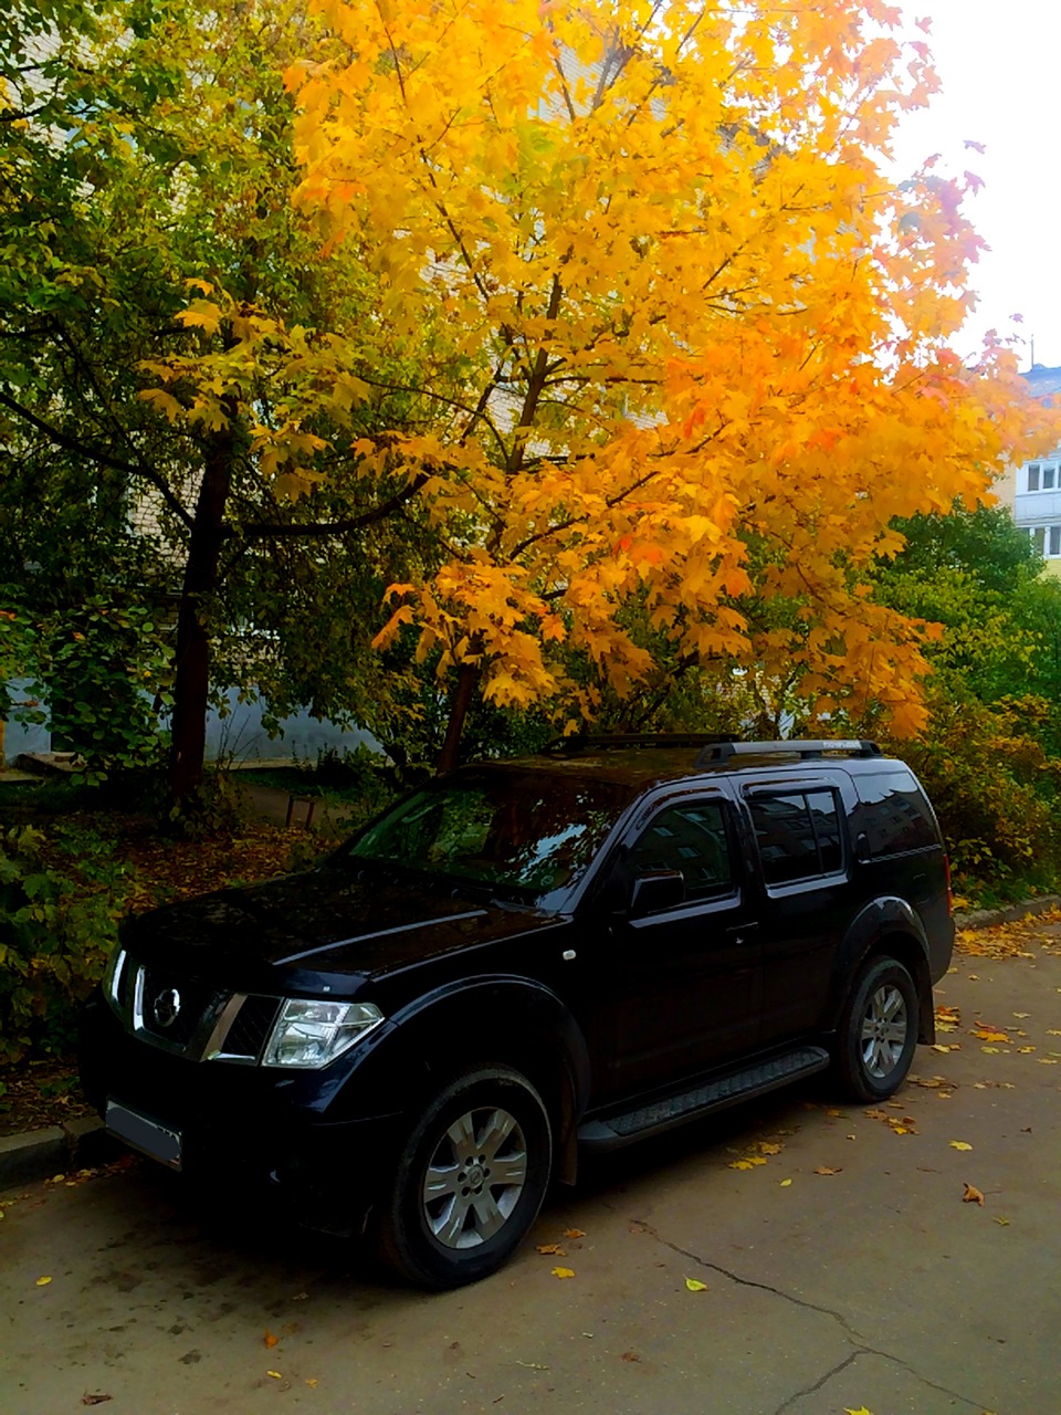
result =
[[457,1286],[580,1152],[829,1065],[891,1095],[952,941],[935,816],[873,743],[569,739],[126,920],[82,1074],[171,1169]]

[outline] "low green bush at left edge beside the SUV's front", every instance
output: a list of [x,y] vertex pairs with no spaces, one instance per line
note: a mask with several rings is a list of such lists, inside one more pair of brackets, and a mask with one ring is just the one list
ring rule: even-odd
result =
[[92,831],[0,836],[0,1061],[69,1050],[126,899],[124,867]]

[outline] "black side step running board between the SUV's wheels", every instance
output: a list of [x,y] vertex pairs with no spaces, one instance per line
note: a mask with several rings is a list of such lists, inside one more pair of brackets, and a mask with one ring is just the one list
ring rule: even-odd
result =
[[743,1071],[733,1071],[717,1081],[707,1081],[692,1091],[666,1095],[635,1111],[608,1115],[604,1119],[586,1121],[579,1126],[579,1145],[587,1150],[618,1149],[634,1140],[669,1131],[683,1125],[697,1115],[737,1105],[755,1095],[764,1095],[777,1087],[788,1085],[802,1075],[813,1075],[829,1065],[829,1053],[823,1047],[796,1047],[784,1056],[771,1057]]

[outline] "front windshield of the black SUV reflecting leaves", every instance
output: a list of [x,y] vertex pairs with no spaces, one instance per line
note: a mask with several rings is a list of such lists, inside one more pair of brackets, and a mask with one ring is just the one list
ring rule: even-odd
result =
[[423,787],[366,826],[345,859],[475,883],[518,900],[586,872],[631,791],[539,771],[468,771]]

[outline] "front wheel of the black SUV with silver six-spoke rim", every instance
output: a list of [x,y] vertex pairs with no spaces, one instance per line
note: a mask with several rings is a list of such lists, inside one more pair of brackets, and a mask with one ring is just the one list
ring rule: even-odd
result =
[[538,1217],[552,1152],[549,1114],[526,1077],[504,1065],[454,1077],[402,1149],[381,1206],[379,1257],[436,1290],[497,1272]]

